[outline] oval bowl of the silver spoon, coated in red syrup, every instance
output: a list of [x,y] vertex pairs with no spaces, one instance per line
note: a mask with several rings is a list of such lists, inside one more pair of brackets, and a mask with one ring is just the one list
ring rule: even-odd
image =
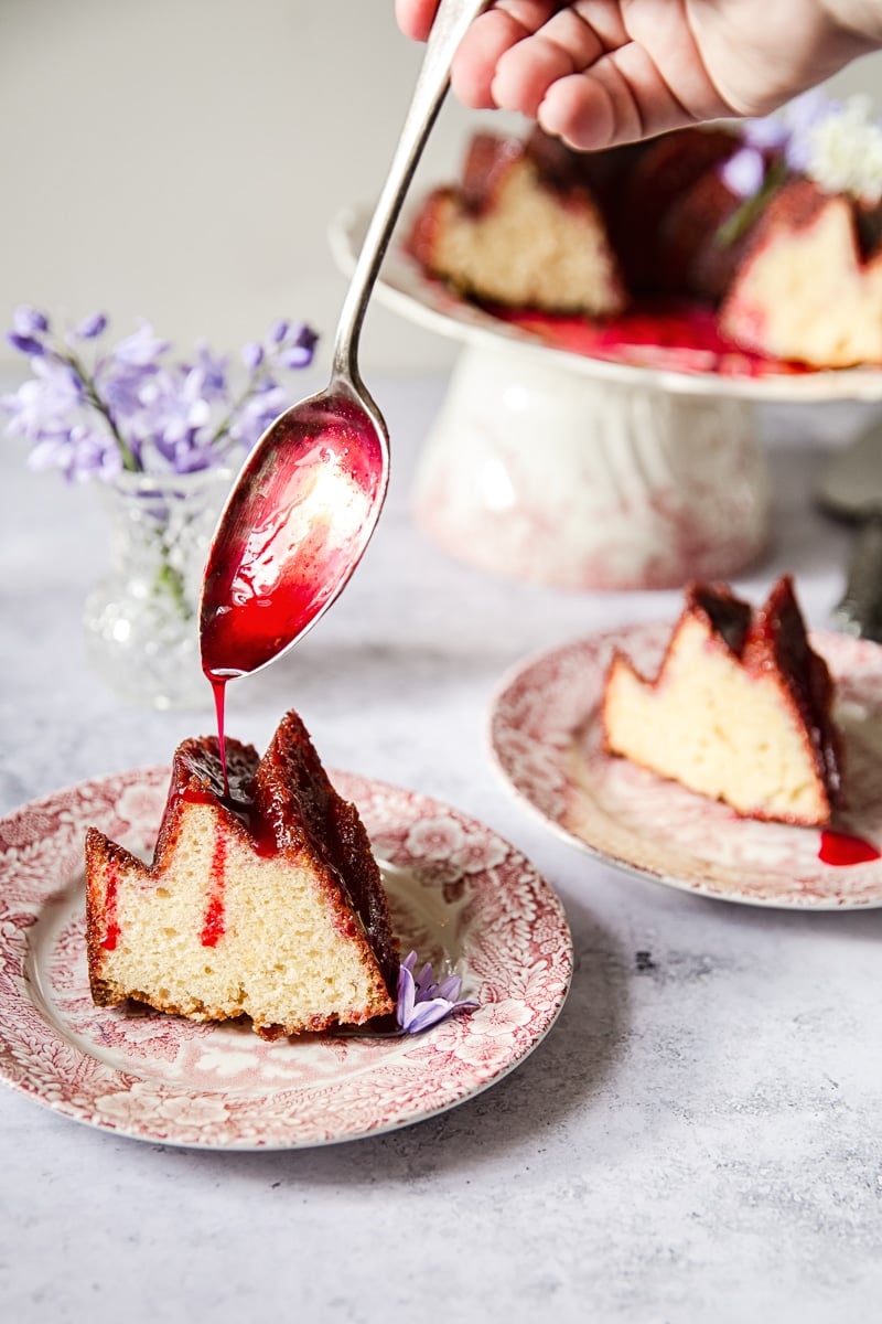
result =
[[386,493],[386,426],[345,379],[286,410],[263,442],[205,569],[202,665],[216,681],[266,666],[319,620],[361,560]]

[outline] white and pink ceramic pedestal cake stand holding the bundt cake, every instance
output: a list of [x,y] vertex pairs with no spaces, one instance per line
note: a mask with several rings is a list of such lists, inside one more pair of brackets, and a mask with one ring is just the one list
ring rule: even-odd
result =
[[[331,226],[344,271],[368,214]],[[655,589],[737,573],[768,538],[758,406],[882,400],[871,368],[751,377],[682,350],[632,348],[625,363],[551,348],[427,279],[395,242],[376,293],[461,342],[417,473],[418,526],[524,581]]]

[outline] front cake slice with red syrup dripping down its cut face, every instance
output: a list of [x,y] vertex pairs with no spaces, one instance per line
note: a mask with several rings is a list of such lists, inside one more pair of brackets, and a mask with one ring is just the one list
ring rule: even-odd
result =
[[86,932],[94,1001],[196,1021],[249,1016],[263,1038],[394,1010],[398,951],[354,805],[295,712],[270,747],[179,745],[151,865],[91,828]]

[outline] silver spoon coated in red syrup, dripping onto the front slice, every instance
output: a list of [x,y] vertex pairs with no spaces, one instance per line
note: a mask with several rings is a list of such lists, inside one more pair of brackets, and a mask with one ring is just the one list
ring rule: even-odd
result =
[[342,305],[331,383],[292,405],[263,433],[221,515],[200,608],[202,669],[220,700],[226,681],[287,651],[331,606],[380,518],[389,479],[389,433],[358,372],[358,335],[405,193],[444,99],[454,56],[488,3],[442,0]]

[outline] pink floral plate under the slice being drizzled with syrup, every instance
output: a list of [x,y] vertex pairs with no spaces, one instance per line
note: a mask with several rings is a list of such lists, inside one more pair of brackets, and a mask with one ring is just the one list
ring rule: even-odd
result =
[[267,1043],[238,1022],[198,1025],[97,1008],[85,956],[83,833],[153,847],[168,769],[83,782],[0,820],[0,1078],[118,1135],[218,1149],[288,1149],[391,1131],[512,1071],[563,1005],[573,944],[534,869],[455,809],[335,773],[364,817],[401,937],[463,977],[479,1006],[424,1034]]

